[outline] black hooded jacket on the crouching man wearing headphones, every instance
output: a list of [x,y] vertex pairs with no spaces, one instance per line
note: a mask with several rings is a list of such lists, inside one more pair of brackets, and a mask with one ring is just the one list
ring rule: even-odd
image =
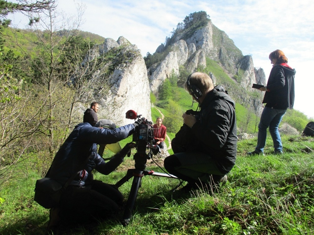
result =
[[196,146],[213,158],[221,173],[235,165],[237,148],[235,102],[222,86],[215,86],[201,104],[201,114],[192,126]]

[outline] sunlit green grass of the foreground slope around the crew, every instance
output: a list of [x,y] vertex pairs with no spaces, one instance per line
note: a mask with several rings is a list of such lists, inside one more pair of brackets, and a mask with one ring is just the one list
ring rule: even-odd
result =
[[[117,218],[95,224],[63,226],[58,234],[313,234],[313,138],[283,136],[284,154],[247,156],[256,138],[239,141],[235,167],[217,190],[171,192],[179,180],[143,176],[127,227]],[[133,152],[134,154],[134,152]],[[95,179],[116,183],[133,167],[132,158],[110,175]],[[149,163],[149,170],[160,171]],[[48,210],[33,201],[38,175],[10,181],[1,189],[0,234],[46,234]],[[120,187],[128,197],[132,179]]]

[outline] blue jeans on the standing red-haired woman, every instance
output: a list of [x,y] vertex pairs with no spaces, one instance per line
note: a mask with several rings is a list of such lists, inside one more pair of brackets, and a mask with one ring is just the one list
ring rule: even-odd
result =
[[286,111],[286,109],[273,109],[264,107],[261,120],[258,124],[257,146],[255,148],[256,152],[264,151],[268,127],[270,135],[273,139],[275,153],[282,152],[282,144],[278,126]]

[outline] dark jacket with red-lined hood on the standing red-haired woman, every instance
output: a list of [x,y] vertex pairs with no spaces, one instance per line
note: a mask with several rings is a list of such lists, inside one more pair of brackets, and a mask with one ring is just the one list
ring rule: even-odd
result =
[[270,71],[263,103],[275,109],[292,109],[295,98],[295,69],[275,65]]

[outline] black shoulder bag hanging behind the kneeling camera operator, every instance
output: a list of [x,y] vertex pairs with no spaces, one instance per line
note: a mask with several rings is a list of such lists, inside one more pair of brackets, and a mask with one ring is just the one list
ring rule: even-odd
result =
[[57,207],[64,189],[56,180],[42,178],[36,181],[34,201],[46,209]]

